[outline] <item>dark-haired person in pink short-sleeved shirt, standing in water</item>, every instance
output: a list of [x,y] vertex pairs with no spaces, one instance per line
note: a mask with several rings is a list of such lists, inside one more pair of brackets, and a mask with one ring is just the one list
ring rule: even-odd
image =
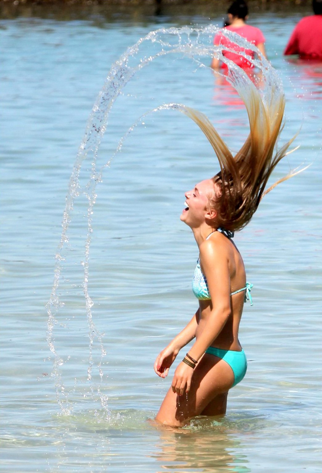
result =
[[[248,7],[246,2],[242,0],[234,1],[229,7],[227,13],[229,25],[225,26],[225,29],[233,31],[247,39],[247,41],[257,46],[259,52],[263,54],[264,57],[266,57],[265,37],[263,33],[259,28],[246,24],[246,20],[248,18]],[[252,64],[243,56],[243,54],[246,53],[254,58],[255,53],[251,49],[245,49],[234,42],[230,42],[224,35],[221,35],[220,33],[215,36],[214,44],[223,45],[229,49],[235,50],[236,53],[232,53],[230,51],[225,51],[223,48],[223,54],[227,59],[232,60],[238,66],[245,69],[253,67]],[[238,52],[242,54],[238,54]],[[211,61],[211,67],[213,69],[219,69],[219,66],[220,61],[216,58],[213,58]],[[226,64],[222,63],[222,67],[226,68],[227,66]]]

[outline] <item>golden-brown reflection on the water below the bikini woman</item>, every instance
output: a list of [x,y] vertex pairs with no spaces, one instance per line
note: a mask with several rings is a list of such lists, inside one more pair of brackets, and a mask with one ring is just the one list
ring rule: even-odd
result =
[[[152,458],[161,463],[161,472],[204,473],[250,472],[240,439],[220,421],[194,420],[187,429],[160,428],[161,449]],[[158,473],[159,473],[158,471]]]

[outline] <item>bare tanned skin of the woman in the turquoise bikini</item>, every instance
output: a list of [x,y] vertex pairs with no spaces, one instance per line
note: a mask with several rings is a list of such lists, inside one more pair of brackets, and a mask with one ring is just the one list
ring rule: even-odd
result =
[[188,351],[198,360],[196,368],[179,363],[155,418],[168,426],[186,425],[197,415],[226,412],[228,390],[234,382],[233,370],[224,360],[205,351],[209,346],[241,351],[238,329],[244,292],[233,296],[231,293],[245,286],[245,268],[233,243],[216,231],[217,212],[209,205],[209,198],[216,190],[212,179],[197,184],[185,194],[187,208],[180,216],[195,236],[211,299],[199,301],[196,314],[155,360],[155,372],[165,378],[179,350],[196,339]]

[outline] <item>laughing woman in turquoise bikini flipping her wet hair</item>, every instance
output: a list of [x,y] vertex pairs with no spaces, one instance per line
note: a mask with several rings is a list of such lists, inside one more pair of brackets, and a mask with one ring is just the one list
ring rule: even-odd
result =
[[294,175],[287,175],[265,191],[269,176],[292,141],[274,153],[285,99],[277,85],[269,87],[270,96],[265,99],[253,84],[239,90],[244,96],[250,134],[235,157],[205,115],[187,107],[181,110],[204,131],[215,150],[220,171],[185,193],[180,219],[191,228],[199,249],[193,276],[199,307],[154,364],[155,372],[166,377],[179,350],[196,339],[176,368],[156,416],[164,425],[179,427],[197,415],[224,414],[229,389],[246,373],[247,361],[238,329],[244,301],[251,302],[251,285],[246,282],[233,233],[249,223],[265,193]]

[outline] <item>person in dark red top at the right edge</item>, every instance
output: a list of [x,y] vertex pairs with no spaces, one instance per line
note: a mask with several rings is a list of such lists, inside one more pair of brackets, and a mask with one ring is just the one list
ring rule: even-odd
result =
[[304,17],[294,28],[284,55],[299,54],[301,58],[322,59],[322,0],[313,0],[314,15]]

